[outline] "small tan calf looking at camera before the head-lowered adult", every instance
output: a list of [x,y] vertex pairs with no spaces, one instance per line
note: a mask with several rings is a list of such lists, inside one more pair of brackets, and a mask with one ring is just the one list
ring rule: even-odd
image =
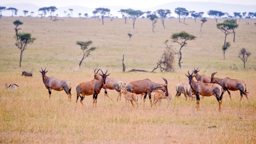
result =
[[137,105],[137,109],[139,108],[139,103],[137,102],[138,101],[138,96],[135,93],[128,92],[127,88],[126,88],[126,84],[124,84],[122,86],[121,93],[123,93],[123,97],[126,99],[126,107],[127,107],[127,104],[130,100],[130,103],[133,105],[133,107],[134,107],[134,104],[133,104],[133,101],[134,101]]

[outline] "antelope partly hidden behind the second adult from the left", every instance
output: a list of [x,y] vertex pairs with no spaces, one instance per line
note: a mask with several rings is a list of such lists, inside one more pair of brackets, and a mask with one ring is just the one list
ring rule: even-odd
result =
[[[100,75],[99,74],[96,74],[96,77],[95,79],[101,79]],[[119,101],[121,100],[121,87],[122,87],[122,81],[119,81],[117,79],[109,79],[109,78],[106,78],[106,84],[103,85],[102,88],[104,88],[104,96],[107,96],[107,98],[109,98],[110,100],[112,100],[112,98],[110,98],[108,95],[107,95],[107,89],[110,89],[110,90],[116,90],[119,95],[117,96],[117,101],[119,99]]]

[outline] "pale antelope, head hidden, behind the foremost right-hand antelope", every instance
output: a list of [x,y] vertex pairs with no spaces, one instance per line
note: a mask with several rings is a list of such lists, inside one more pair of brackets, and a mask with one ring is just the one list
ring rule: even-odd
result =
[[175,88],[177,91],[175,97],[177,97],[179,99],[179,96],[183,93],[186,100],[187,100],[187,95],[189,96],[189,99],[191,98],[191,100],[192,100],[193,93],[192,93],[192,89],[191,89],[189,83],[179,83],[175,86]]

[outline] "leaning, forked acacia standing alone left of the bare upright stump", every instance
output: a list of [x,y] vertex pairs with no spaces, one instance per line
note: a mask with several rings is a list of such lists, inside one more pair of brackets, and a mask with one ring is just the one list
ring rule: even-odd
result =
[[81,46],[81,49],[84,53],[83,58],[79,62],[79,69],[80,69],[80,66],[81,66],[81,63],[83,62],[83,60],[86,57],[88,57],[92,51],[95,51],[95,49],[97,49],[97,47],[94,47],[94,46],[92,46],[91,48],[88,48],[88,46],[91,45],[92,43],[93,42],[91,40],[86,41],[86,42],[77,41],[77,45]]

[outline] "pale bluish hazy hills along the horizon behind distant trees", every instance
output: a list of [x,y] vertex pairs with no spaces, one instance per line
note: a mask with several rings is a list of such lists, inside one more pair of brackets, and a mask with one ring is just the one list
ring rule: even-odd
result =
[[[21,4],[3,4],[0,6],[5,6],[5,7],[15,7],[17,8],[18,11],[18,16],[23,16],[23,10],[28,10],[30,15],[30,12],[35,12],[33,16],[39,16],[38,9],[40,6],[29,4],[29,3],[21,3]],[[106,7],[111,10],[112,16],[119,16],[121,17],[121,14],[118,12],[120,9],[128,9],[132,7],[125,7],[125,6],[101,6],[101,7]],[[140,9],[143,12],[147,11],[156,11],[157,9],[170,9],[172,12],[172,16],[177,16],[174,12],[174,9],[176,7],[184,7],[188,11],[196,11],[196,12],[205,12],[204,16],[207,16],[207,12],[209,10],[219,10],[222,12],[228,12],[230,15],[233,15],[233,12],[256,12],[256,5],[234,5],[234,4],[225,4],[225,3],[217,3],[217,2],[170,2],[166,3],[163,5],[159,5],[156,7],[151,7],[147,9]],[[78,17],[78,14],[81,13],[82,16],[85,13],[88,13],[89,16],[93,16],[92,11],[94,8],[88,8],[88,7],[83,7],[83,6],[68,6],[68,7],[57,7],[58,10],[54,12],[54,14],[58,14],[58,16],[65,16],[64,11],[67,11],[67,13],[70,13],[68,9],[74,9],[73,11],[73,17]],[[132,8],[133,9],[133,8]],[[3,16],[11,16],[10,11],[3,11],[2,15]]]

